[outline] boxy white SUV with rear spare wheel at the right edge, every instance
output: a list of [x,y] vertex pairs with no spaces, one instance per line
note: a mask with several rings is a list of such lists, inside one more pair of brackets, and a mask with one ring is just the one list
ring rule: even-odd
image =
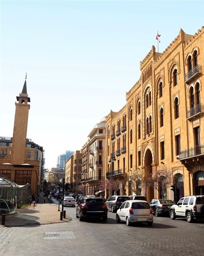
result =
[[187,222],[204,218],[204,196],[185,196],[170,208],[170,218],[186,217]]

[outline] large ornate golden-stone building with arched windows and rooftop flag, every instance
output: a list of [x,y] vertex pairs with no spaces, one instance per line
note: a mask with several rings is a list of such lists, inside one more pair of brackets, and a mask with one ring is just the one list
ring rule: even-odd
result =
[[[152,46],[140,62],[126,105],[106,119],[106,178],[167,168],[176,177],[177,200],[204,194],[203,46],[204,27],[195,35],[180,29],[163,53]],[[117,193],[129,195],[128,182]],[[142,193],[148,201],[159,197],[147,186]],[[166,196],[175,199],[172,190]]]

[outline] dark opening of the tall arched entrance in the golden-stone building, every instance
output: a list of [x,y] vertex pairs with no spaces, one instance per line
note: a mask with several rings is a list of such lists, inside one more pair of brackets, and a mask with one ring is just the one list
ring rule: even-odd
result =
[[[152,174],[153,168],[153,157],[151,150],[147,148],[145,151],[145,156],[144,156],[144,171],[145,171],[145,176]],[[145,191],[144,191],[145,196],[147,197],[147,200],[151,202],[151,200],[154,198],[154,189],[150,188],[149,186],[145,186]]]

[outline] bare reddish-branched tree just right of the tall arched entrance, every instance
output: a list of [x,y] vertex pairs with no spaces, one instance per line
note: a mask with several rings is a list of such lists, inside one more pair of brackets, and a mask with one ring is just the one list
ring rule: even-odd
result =
[[155,188],[160,196],[164,198],[167,189],[173,184],[173,174],[169,169],[157,170],[155,173],[150,174],[145,183],[151,188]]

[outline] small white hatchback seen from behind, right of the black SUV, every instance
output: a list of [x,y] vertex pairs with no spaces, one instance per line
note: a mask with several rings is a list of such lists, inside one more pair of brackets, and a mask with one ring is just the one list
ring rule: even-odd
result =
[[148,226],[153,224],[152,209],[147,201],[127,200],[116,213],[116,221],[125,221],[127,226],[135,222],[146,222]]

